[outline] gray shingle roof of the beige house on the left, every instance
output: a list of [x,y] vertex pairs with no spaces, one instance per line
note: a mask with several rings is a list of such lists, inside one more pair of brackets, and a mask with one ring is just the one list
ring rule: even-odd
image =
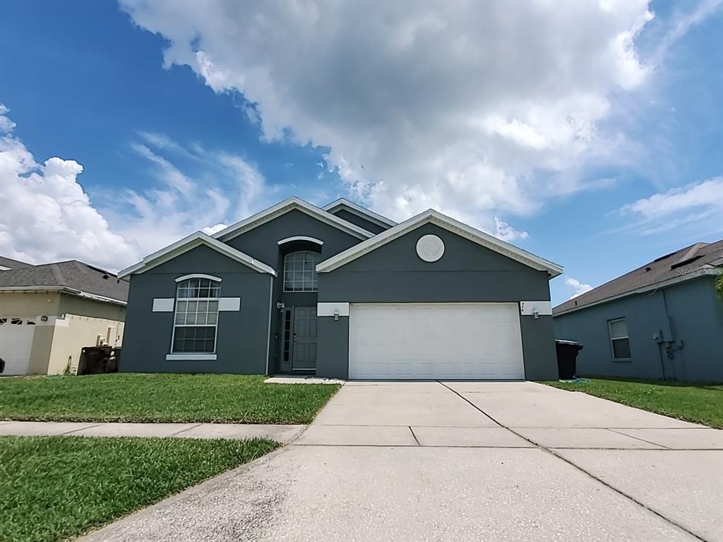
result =
[[117,301],[128,300],[127,280],[118,280],[112,273],[74,259],[0,271],[0,288],[33,286],[64,287]]

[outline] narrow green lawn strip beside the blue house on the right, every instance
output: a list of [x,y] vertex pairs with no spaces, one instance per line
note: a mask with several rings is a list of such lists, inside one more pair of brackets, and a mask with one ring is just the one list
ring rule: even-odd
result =
[[723,384],[603,378],[585,380],[587,382],[543,384],[723,429]]

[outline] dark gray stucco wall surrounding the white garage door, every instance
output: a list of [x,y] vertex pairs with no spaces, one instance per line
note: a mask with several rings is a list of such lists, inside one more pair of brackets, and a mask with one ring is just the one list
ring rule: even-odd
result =
[[[424,262],[416,242],[440,236],[445,253]],[[549,301],[547,272],[536,271],[495,251],[425,224],[331,272],[319,274],[320,302],[349,303],[505,303]],[[348,373],[348,318],[320,317],[317,375]],[[550,318],[521,316],[525,374],[556,379],[557,358]]]

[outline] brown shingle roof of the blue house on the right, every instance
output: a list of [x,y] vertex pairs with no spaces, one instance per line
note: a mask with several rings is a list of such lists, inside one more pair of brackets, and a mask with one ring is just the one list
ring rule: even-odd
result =
[[715,243],[696,243],[654,259],[636,270],[565,301],[552,309],[552,314],[578,309],[609,298],[622,296],[638,290],[638,288],[654,286],[666,280],[678,278],[683,274],[693,273],[703,267],[716,267],[722,264],[723,239]]

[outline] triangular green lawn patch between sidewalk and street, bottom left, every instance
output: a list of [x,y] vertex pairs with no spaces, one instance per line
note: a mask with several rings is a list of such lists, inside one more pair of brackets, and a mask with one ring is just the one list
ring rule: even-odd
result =
[[269,440],[0,437],[0,541],[62,541],[278,447]]

